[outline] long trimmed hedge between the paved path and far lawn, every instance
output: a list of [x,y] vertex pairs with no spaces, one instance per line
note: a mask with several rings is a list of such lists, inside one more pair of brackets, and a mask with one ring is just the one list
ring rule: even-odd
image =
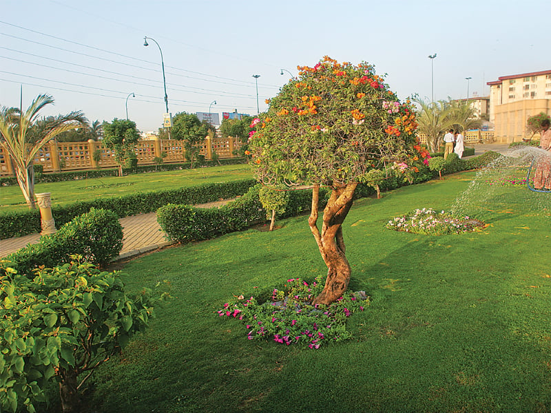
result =
[[[154,212],[169,203],[203,204],[220,199],[235,198],[256,184],[253,179],[225,183],[202,184],[196,187],[170,189],[167,191],[136,192],[112,198],[74,202],[61,207],[52,207],[56,226],[61,226],[74,217],[87,213],[92,208],[109,209],[119,218],[138,213]],[[15,211],[0,215],[0,240],[40,232],[38,210]]]

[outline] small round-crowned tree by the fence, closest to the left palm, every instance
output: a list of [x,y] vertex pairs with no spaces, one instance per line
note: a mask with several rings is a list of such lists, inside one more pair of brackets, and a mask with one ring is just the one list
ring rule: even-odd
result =
[[[112,123],[104,122],[103,145],[114,151],[118,164],[118,176],[123,176],[123,165],[136,156],[136,143],[140,134],[132,120],[114,118]],[[134,154],[134,156],[132,156]]]

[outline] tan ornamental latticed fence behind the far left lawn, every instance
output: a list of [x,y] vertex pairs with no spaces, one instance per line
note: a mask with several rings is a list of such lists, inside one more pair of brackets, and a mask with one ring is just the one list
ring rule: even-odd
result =
[[[241,142],[237,138],[207,137],[200,148],[200,155],[211,160],[213,153],[220,158],[233,158],[233,151],[240,149]],[[165,152],[163,162],[184,162],[185,149],[180,140],[154,138],[140,140],[136,145],[138,165],[153,165],[154,158],[161,157]],[[95,154],[95,155],[94,155]],[[42,165],[43,171],[74,171],[76,169],[92,169],[116,167],[115,154],[104,147],[101,141],[96,142],[49,142],[37,153],[34,165]],[[0,145],[0,176],[13,176],[12,162],[7,151]]]

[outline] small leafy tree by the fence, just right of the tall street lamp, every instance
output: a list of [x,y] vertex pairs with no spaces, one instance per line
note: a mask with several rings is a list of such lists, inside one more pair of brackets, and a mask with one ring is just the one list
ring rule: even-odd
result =
[[214,131],[214,127],[206,120],[201,122],[196,114],[180,112],[172,119],[171,136],[183,142],[185,158],[191,162],[191,168],[209,131]]

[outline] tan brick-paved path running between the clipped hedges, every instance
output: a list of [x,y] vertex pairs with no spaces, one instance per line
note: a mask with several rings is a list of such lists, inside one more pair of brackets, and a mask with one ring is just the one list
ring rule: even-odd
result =
[[[468,144],[466,146],[475,148],[475,156],[481,155],[487,151],[505,153],[508,151],[509,147],[509,145],[505,143],[481,143],[476,145]],[[229,202],[229,200],[210,202],[209,204],[196,205],[196,207],[220,207],[227,202]],[[123,225],[124,237],[123,249],[118,256],[118,259],[132,257],[132,255],[138,255],[172,244],[172,242],[165,239],[165,233],[160,231],[160,226],[157,223],[156,214],[154,212],[121,218],[120,221]],[[24,237],[0,240],[0,257],[6,257],[6,255],[17,251],[19,248],[23,248],[23,246],[26,246],[27,244],[34,244],[38,242],[39,238],[39,234],[31,234],[25,235]]]

